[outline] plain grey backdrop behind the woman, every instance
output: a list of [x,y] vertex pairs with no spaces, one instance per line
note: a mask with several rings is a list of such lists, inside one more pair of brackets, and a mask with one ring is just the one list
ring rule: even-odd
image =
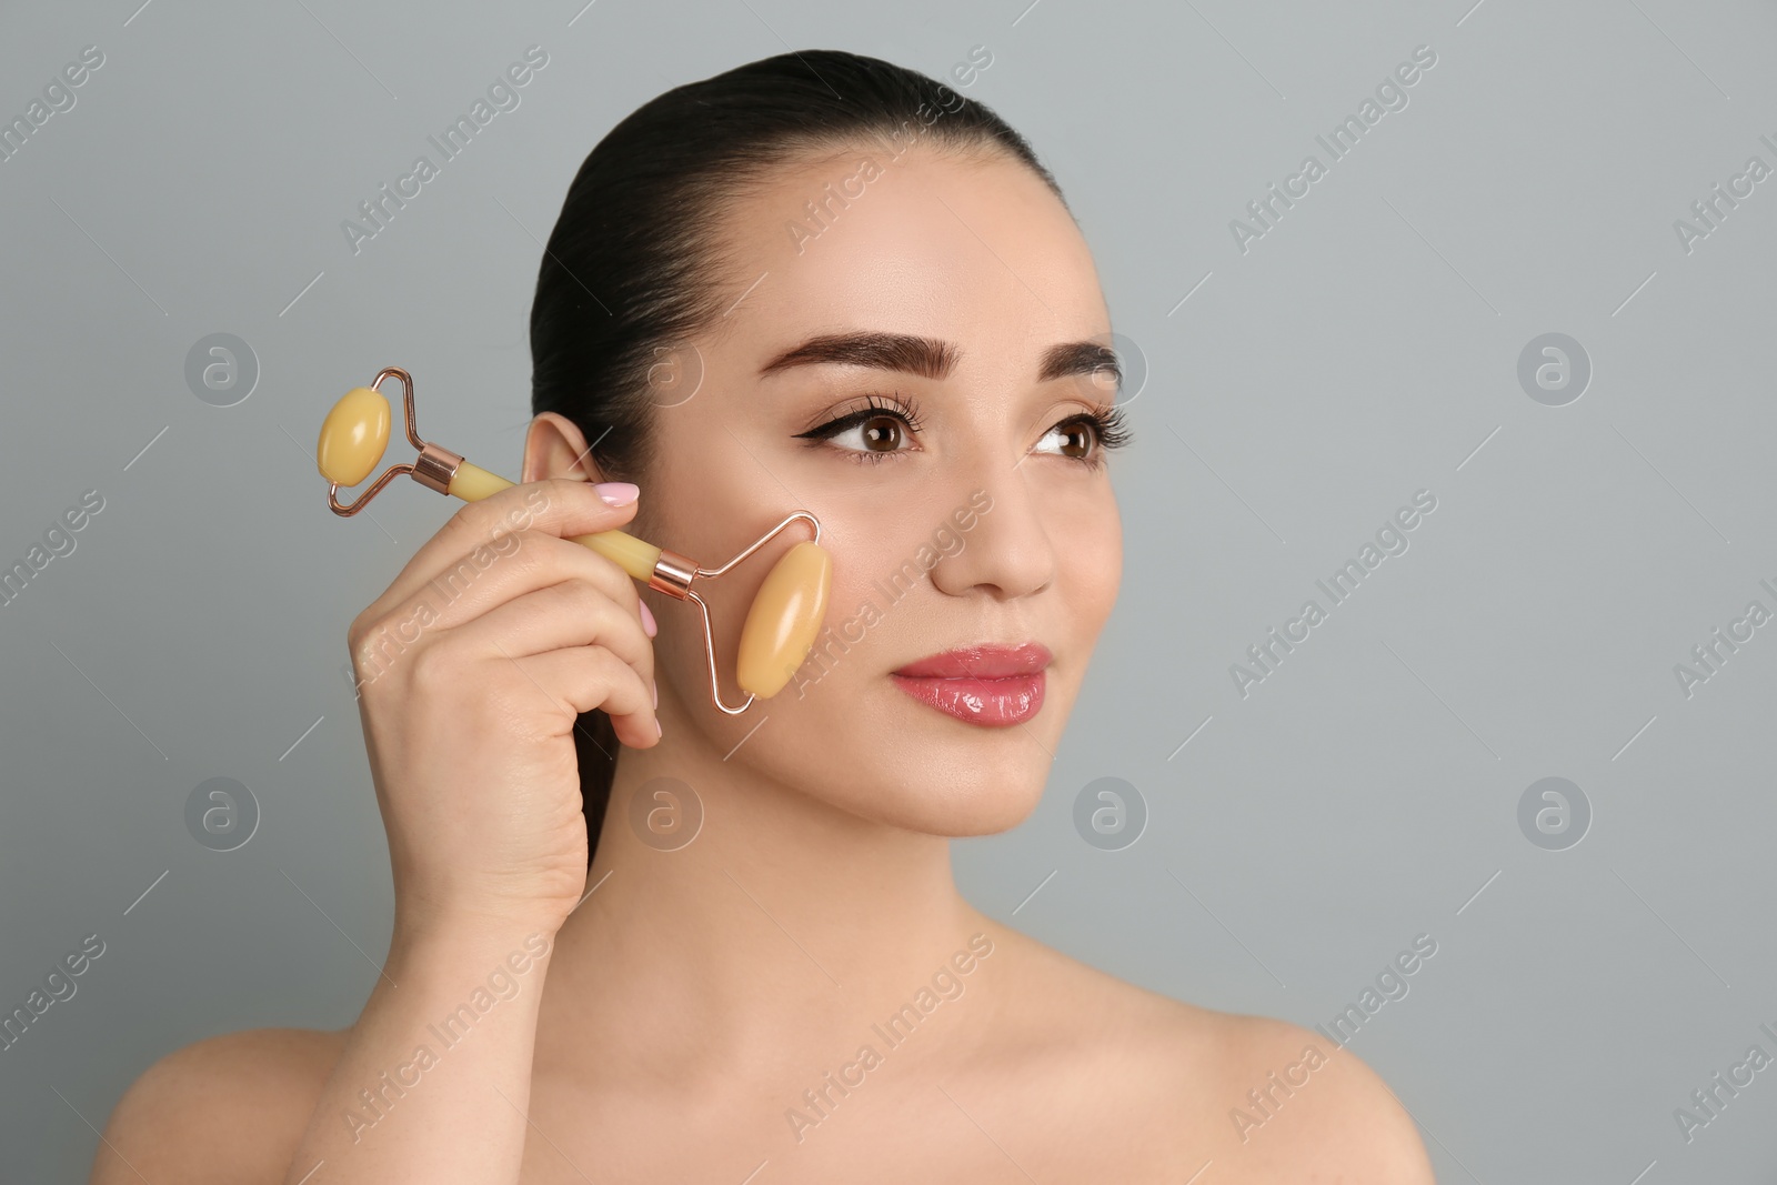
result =
[[[1034,817],[956,842],[965,894],[1304,1025],[1429,933],[1351,1048],[1439,1180],[1772,1180],[1777,1070],[1688,1144],[1672,1117],[1777,1054],[1777,625],[1690,698],[1672,670],[1777,608],[1777,179],[1690,254],[1672,229],[1777,165],[1770,4],[581,2],[0,18],[7,119],[105,53],[0,162],[0,560],[105,497],[0,608],[0,1004],[107,943],[0,1054],[5,1180],[85,1180],[155,1057],[370,991],[391,888],[343,636],[450,508],[327,513],[332,400],[409,368],[425,435],[515,469],[537,240],[617,119],[791,46],[945,76],[976,44],[968,94],[1056,171],[1151,375],[1112,462],[1121,600]],[[352,254],[339,222],[533,43],[521,107]],[[1242,254],[1230,220],[1420,44],[1409,105]],[[185,382],[211,332],[261,366],[235,407]],[[1566,407],[1516,378],[1544,332],[1592,361]],[[1242,698],[1228,666],[1420,489],[1409,551]],[[259,801],[238,851],[187,833],[213,776]],[[1073,826],[1104,776],[1150,812],[1121,851]],[[1566,851],[1518,824],[1544,776],[1594,812]]]

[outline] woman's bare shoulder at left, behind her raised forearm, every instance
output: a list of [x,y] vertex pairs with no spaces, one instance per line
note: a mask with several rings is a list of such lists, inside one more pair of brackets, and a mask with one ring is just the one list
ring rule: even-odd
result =
[[167,1054],[112,1110],[91,1185],[277,1185],[347,1032],[247,1029]]

